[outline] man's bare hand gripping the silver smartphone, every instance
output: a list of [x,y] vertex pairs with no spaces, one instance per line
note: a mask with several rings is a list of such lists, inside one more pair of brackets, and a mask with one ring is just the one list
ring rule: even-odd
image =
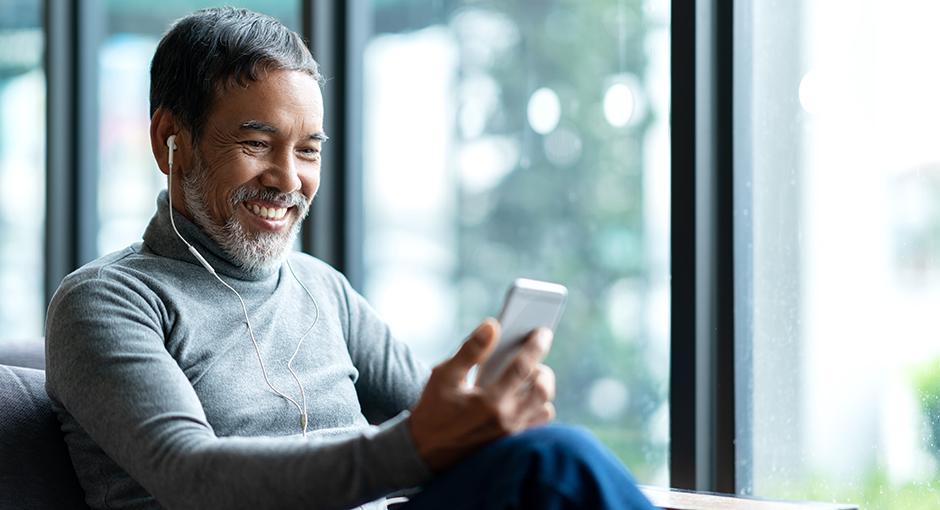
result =
[[499,340],[499,323],[486,319],[453,357],[434,367],[410,425],[421,458],[434,471],[459,461],[485,443],[541,425],[555,417],[555,374],[541,364],[552,332],[539,328],[499,379],[471,386],[467,373],[484,362]]

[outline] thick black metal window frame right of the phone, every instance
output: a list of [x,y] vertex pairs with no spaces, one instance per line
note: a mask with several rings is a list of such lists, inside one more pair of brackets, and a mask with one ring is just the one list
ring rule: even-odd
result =
[[670,485],[734,493],[734,8],[671,6]]

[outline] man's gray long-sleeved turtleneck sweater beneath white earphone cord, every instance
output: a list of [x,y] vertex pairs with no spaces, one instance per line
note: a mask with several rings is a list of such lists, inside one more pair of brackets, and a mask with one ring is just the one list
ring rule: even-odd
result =
[[[405,421],[427,370],[342,275],[290,255],[320,311],[293,362],[303,439],[300,412],[264,382],[238,298],[168,210],[163,192],[143,243],[66,277],[49,306],[47,390],[88,504],[349,508],[427,481]],[[314,321],[310,297],[286,264],[246,272],[174,214],[244,298],[271,383],[300,402],[287,361]]]

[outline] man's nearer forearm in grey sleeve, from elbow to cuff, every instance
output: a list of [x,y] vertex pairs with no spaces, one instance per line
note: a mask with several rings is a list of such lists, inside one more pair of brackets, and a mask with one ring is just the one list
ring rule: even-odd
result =
[[309,440],[178,434],[126,468],[168,508],[349,508],[427,480],[403,418]]

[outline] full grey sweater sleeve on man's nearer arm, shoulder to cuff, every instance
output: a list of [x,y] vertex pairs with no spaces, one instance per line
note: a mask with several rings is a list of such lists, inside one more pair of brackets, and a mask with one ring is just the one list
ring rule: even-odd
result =
[[216,437],[164,347],[161,304],[109,278],[49,308],[47,389],[168,508],[348,508],[425,482],[404,415],[342,437]]

